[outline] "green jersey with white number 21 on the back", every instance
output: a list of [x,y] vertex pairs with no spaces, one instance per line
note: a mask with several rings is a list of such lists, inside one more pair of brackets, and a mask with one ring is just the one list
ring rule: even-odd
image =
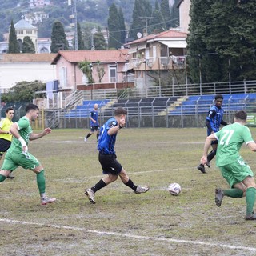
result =
[[238,160],[242,161],[239,150],[244,142],[254,142],[250,130],[238,122],[225,126],[214,134],[218,139],[216,165],[226,166]]

